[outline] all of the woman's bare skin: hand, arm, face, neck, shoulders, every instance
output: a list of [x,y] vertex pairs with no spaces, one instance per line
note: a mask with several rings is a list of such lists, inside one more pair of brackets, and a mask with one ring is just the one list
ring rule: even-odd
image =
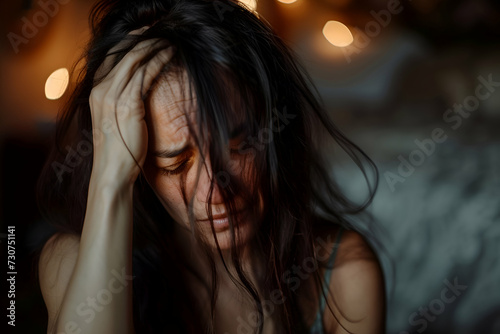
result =
[[[132,33],[141,33],[143,30]],[[133,185],[141,167],[144,168],[148,182],[176,221],[176,233],[179,244],[183,247],[182,253],[192,254],[188,260],[194,261],[195,266],[204,271],[197,245],[189,237],[191,226],[182,200],[180,177],[177,174],[162,173],[162,169],[177,168],[180,161],[178,158],[159,158],[154,154],[182,147],[193,140],[186,124],[188,117],[195,124],[195,108],[192,100],[184,101],[180,98],[182,81],[175,77],[160,82],[151,92],[147,106],[143,105],[142,96],[174,54],[174,50],[169,48],[145,67],[138,68],[139,60],[147,54],[150,45],[151,41],[146,41],[135,47],[92,90],[89,104],[93,128],[101,128],[109,122],[111,126],[110,131],[103,132],[99,145],[94,147],[94,164],[81,236],[55,235],[46,243],[40,256],[40,288],[48,310],[49,333],[75,332],[78,329],[81,330],[80,333],[134,333],[131,322],[132,284],[128,283],[132,279]],[[102,64],[102,73],[106,73],[106,67],[110,63],[111,59],[108,57]],[[143,73],[147,75],[143,76]],[[133,74],[133,77],[124,86],[129,74]],[[141,86],[145,91],[141,92],[137,88]],[[119,94],[122,90],[123,94]],[[187,114],[184,114],[184,110],[188,111]],[[120,132],[117,131],[118,126]],[[123,141],[127,146],[123,145]],[[238,140],[231,142],[230,146],[233,144],[237,146]],[[189,155],[189,168],[184,171],[186,193],[188,198],[193,199],[195,219],[207,217],[206,195],[213,175],[209,157],[205,156],[207,158],[203,161],[200,152],[193,149]],[[238,167],[242,169],[242,175],[249,175],[242,166],[251,164],[242,164],[244,159],[245,157],[234,157],[236,163],[233,167],[236,170]],[[236,202],[242,208],[245,207],[240,199],[236,199]],[[225,211],[217,187],[213,194],[212,209],[214,214]],[[258,220],[245,219],[242,218],[245,224],[238,231],[241,236],[237,241],[239,246],[248,244],[258,230],[258,224],[254,223]],[[199,223],[197,227],[210,243],[213,237],[207,225]],[[221,248],[227,251],[227,231],[219,231],[216,238]],[[327,246],[330,251],[331,247],[331,244]],[[258,273],[259,261],[254,259],[255,262],[252,262],[249,255],[245,249],[242,263],[255,283],[258,279],[253,274]],[[225,272],[220,266],[217,269],[218,273]],[[89,296],[96,296],[96,291],[109,290],[110,286],[116,289],[117,280],[113,272],[122,273],[128,283],[119,293],[113,294],[112,302],[95,312],[92,319],[76,313],[75,310],[88,301]],[[240,298],[239,289],[227,277],[221,275],[221,281],[215,310],[216,332],[236,333],[238,317],[246,318],[254,311],[253,305]],[[110,285],[110,282],[113,284]],[[302,283],[306,282],[309,283],[308,280]],[[330,282],[330,290],[334,291],[336,298],[329,301],[337,303],[338,309],[334,307],[334,311],[346,328],[357,333],[383,332],[383,275],[374,253],[359,234],[352,231],[344,234]],[[188,278],[186,284],[200,291],[201,305],[208,305],[208,294],[204,294],[196,282]],[[256,286],[259,287],[259,284]],[[306,297],[310,296],[304,296],[304,301],[311,300]],[[312,298],[310,304],[304,302],[301,305],[306,319],[311,322],[317,305],[317,298]],[[209,312],[202,316],[208,317]],[[325,324],[327,333],[347,333],[338,325],[328,308],[325,310]],[[275,330],[273,319],[266,319],[264,332],[272,333]]]

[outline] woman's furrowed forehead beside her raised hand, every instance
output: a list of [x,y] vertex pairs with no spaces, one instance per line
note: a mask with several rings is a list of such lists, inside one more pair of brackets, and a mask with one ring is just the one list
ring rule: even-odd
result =
[[194,91],[190,96],[185,71],[163,76],[149,94],[146,105],[150,149],[179,148],[189,141],[188,117],[195,125],[196,96]]

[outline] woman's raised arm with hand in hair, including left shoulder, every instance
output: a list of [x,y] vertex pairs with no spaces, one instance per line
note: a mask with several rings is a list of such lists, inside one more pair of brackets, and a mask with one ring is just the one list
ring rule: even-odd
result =
[[[173,55],[172,48],[162,50],[139,67],[152,45],[135,46],[90,94],[92,127],[103,138],[94,138],[82,234],[79,240],[51,238],[40,258],[49,333],[134,332],[132,194],[147,153],[145,91],[138,87],[149,89]],[[109,58],[98,73],[112,63]]]

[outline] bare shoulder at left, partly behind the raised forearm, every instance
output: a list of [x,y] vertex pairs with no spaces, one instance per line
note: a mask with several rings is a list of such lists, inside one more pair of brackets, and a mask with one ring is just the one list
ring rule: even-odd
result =
[[57,317],[66,287],[78,258],[79,237],[55,234],[43,246],[38,262],[38,277],[50,322]]

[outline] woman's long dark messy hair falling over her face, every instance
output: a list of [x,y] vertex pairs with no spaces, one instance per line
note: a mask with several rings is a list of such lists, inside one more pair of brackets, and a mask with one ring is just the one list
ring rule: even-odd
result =
[[[92,169],[93,129],[88,100],[106,54],[120,41],[129,40],[115,51],[116,65],[140,41],[158,39],[145,63],[162,48],[174,45],[176,54],[163,74],[179,69],[188,74],[189,86],[197,97],[201,135],[196,142],[199,147],[208,145],[215,171],[211,189],[214,184],[220,187],[231,212],[236,207],[235,196],[246,194],[244,198],[252,205],[256,204],[251,199],[256,198],[257,191],[263,196],[262,224],[252,240],[252,250],[267,261],[264,296],[257,293],[242,270],[238,247],[231,248],[237,279],[231,277],[254,300],[259,333],[263,328],[262,297],[271,291],[279,291],[284,301],[275,306],[274,313],[281,330],[306,332],[297,293],[283,279],[285,272],[304,259],[316,259],[317,231],[336,226],[358,229],[349,217],[363,212],[371,202],[378,183],[373,162],[332,123],[290,49],[267,23],[236,2],[103,0],[94,6],[90,20],[93,34],[84,66],[58,119],[56,145],[39,180],[42,213],[58,232],[81,234]],[[127,35],[143,26],[150,28],[142,35]],[[251,138],[241,147],[253,159],[255,186],[250,190],[240,178],[225,171],[230,159],[225,147],[235,108],[244,115],[245,138]],[[194,126],[190,125],[191,130]],[[364,203],[350,201],[332,179],[321,153],[325,138],[333,138],[363,172],[369,189]],[[369,171],[375,176],[374,182],[370,182]],[[190,208],[190,199],[185,198],[185,202]],[[205,247],[212,268],[212,281],[207,286],[212,296],[212,323],[207,325],[199,320],[196,312],[202,310],[194,308],[196,296],[184,283],[183,275],[196,271],[187,268],[175,251],[169,233],[174,223],[141,174],[134,188],[133,298],[138,333],[214,331],[218,284],[213,256]],[[237,224],[231,221],[233,246]],[[196,235],[195,229],[193,233]],[[202,243],[200,236],[196,237]],[[318,271],[313,275],[321,287]]]

